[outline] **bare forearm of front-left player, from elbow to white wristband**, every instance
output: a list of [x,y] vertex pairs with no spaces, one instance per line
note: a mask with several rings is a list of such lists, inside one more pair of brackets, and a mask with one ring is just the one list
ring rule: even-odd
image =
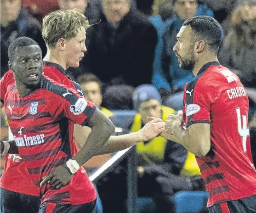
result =
[[[112,123],[111,123],[112,124]],[[103,126],[103,127],[102,127]],[[98,155],[99,150],[102,149],[109,137],[114,132],[114,126],[109,123],[101,123],[91,128],[91,133],[88,136],[85,145],[72,158],[81,166],[86,163],[91,157]]]

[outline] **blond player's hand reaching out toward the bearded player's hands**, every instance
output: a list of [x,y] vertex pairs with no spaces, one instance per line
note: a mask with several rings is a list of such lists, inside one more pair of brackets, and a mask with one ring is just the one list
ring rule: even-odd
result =
[[151,140],[165,130],[165,122],[162,119],[148,117],[148,120],[150,121],[138,131],[142,136],[142,141]]

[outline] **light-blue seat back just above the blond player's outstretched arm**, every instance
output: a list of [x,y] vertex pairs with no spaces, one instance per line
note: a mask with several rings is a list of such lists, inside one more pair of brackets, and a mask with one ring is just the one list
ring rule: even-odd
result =
[[122,134],[130,132],[131,123],[136,115],[134,110],[111,110],[114,113],[116,127],[122,128]]

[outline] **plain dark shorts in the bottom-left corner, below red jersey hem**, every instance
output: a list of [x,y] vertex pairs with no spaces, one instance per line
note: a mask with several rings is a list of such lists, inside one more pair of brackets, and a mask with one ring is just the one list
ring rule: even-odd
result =
[[40,197],[0,188],[1,213],[37,213]]

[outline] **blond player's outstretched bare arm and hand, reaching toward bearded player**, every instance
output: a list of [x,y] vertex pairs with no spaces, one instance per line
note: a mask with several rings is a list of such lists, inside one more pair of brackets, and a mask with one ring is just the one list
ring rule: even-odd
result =
[[136,145],[138,142],[153,139],[164,130],[165,122],[163,122],[163,120],[160,118],[154,118],[137,132],[126,135],[110,136],[107,143],[102,147],[98,154],[109,154],[129,148],[130,146]]

